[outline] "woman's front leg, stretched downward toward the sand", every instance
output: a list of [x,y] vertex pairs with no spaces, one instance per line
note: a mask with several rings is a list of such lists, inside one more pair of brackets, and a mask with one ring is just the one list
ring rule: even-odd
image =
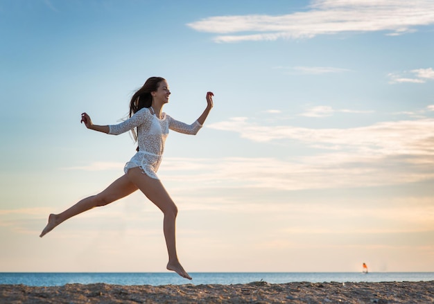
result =
[[148,175],[141,172],[140,168],[131,168],[128,170],[128,178],[164,213],[163,229],[168,251],[167,269],[175,271],[180,276],[191,280],[191,276],[186,273],[177,258],[175,242],[177,207],[175,203],[168,195],[162,182],[159,181],[159,179],[148,177]]

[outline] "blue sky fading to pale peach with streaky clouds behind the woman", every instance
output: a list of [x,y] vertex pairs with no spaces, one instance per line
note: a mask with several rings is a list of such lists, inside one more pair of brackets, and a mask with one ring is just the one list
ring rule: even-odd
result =
[[151,76],[171,132],[158,175],[189,272],[434,271],[431,0],[1,0],[0,271],[164,272],[137,192],[60,213],[123,175]]

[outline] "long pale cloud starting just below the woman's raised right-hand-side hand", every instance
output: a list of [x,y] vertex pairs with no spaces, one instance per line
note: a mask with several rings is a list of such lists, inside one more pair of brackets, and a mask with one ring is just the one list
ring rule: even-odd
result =
[[[327,109],[327,108],[326,108]],[[327,109],[328,110],[328,109]],[[366,154],[434,154],[434,119],[399,120],[347,129],[309,129],[290,125],[266,126],[237,117],[209,125],[213,129],[238,132],[254,142],[296,140],[311,147],[345,149]]]

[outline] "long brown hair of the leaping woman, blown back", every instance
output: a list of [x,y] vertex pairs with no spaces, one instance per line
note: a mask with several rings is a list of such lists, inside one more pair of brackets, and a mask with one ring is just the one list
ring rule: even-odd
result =
[[[131,98],[130,101],[130,114],[129,117],[131,117],[134,113],[139,111],[139,109],[143,109],[144,107],[150,107],[153,104],[153,96],[150,94],[150,92],[157,91],[159,83],[165,80],[162,77],[150,77],[148,80],[146,80],[143,87],[138,89],[136,93]],[[134,137],[134,140],[137,141],[137,131],[132,131],[132,137]],[[136,149],[139,151],[139,147]]]

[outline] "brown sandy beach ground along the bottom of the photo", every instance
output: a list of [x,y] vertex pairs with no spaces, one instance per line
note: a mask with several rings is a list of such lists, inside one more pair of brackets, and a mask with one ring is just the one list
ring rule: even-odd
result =
[[434,281],[236,285],[0,285],[0,303],[434,303]]

